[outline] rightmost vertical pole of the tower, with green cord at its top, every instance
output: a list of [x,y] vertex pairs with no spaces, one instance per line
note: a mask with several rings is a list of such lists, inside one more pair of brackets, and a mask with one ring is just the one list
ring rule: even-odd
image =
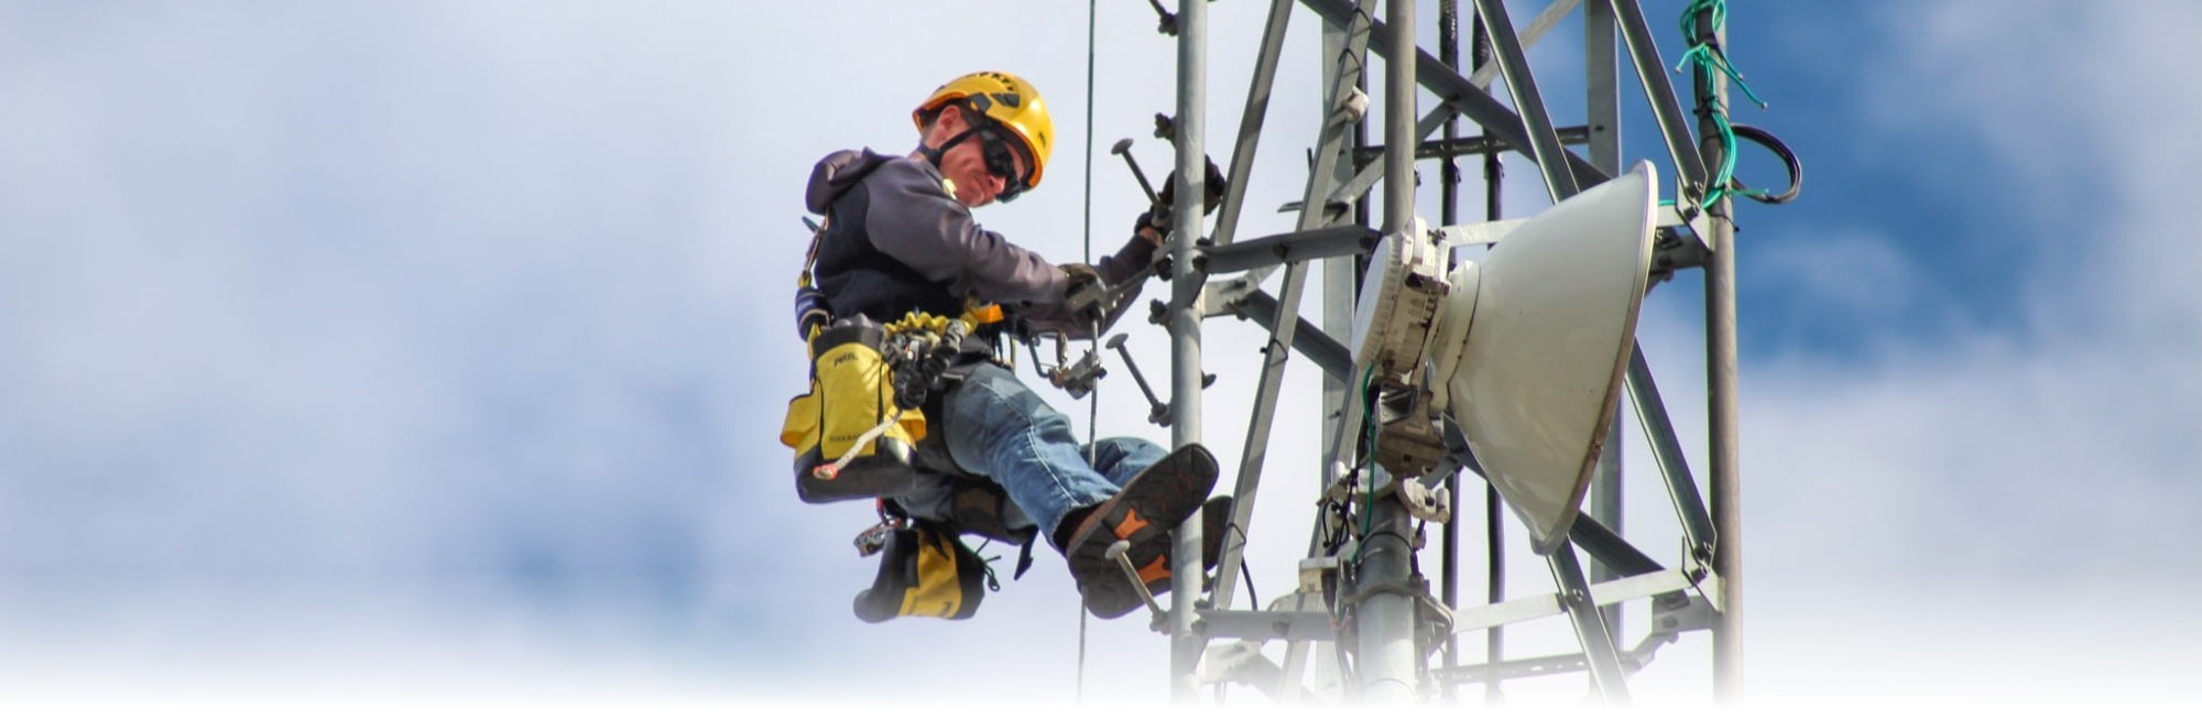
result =
[[[1726,31],[1713,26],[1713,9],[1698,11],[1698,37],[1726,44]],[[1698,148],[1707,168],[1720,168],[1720,126],[1707,112],[1726,110],[1729,79],[1720,73],[1696,73]],[[1711,192],[1713,187],[1707,187]],[[1735,225],[1729,223],[1726,196],[1713,207],[1713,256],[1704,265],[1704,362],[1707,362],[1707,432],[1711,434],[1711,509],[1713,573],[1720,576],[1720,600],[1713,613],[1713,706],[1744,706],[1744,543],[1742,543],[1742,452],[1737,448],[1735,401]]]

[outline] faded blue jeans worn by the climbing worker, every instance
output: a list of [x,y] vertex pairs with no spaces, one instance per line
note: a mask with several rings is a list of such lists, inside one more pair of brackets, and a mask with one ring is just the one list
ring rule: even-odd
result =
[[956,465],[1002,485],[1050,540],[1064,514],[1116,496],[1167,454],[1145,439],[1110,437],[1094,441],[1088,463],[1086,446],[1070,434],[1070,417],[995,364],[971,371],[940,410]]

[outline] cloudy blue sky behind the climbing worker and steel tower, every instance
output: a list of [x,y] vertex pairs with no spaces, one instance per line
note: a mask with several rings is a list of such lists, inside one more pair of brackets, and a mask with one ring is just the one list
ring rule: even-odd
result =
[[[1220,161],[1262,11],[1211,4]],[[1645,11],[1674,62],[1680,2]],[[1315,24],[1295,11],[1249,207],[1299,196]],[[1097,251],[1143,210],[1108,143],[1169,161],[1149,117],[1176,49],[1152,26],[1119,2],[1097,29]],[[1770,104],[1737,119],[1808,168],[1803,198],[1740,214],[1753,704],[2202,704],[2180,602],[2202,587],[2198,26],[2147,0],[1731,9]],[[804,373],[810,163],[909,148],[947,77],[1022,73],[1061,143],[1042,190],[978,216],[1075,260],[1086,33],[1083,7],[1017,2],[0,0],[0,706],[1068,706],[1059,560],[971,622],[861,624],[868,507],[797,503],[773,428]],[[1579,121],[1579,22],[1530,57]],[[1627,159],[1665,168],[1640,95],[1623,106]],[[1506,214],[1541,210],[1508,168]],[[1249,212],[1240,236],[1288,227]],[[1638,329],[1691,448],[1698,287],[1656,289]],[[1158,329],[1123,329],[1167,366]],[[1260,335],[1204,340],[1224,379],[1202,437],[1231,472]],[[1167,441],[1136,388],[1105,395],[1101,432]],[[1312,395],[1295,366],[1264,598],[1312,516],[1312,421],[1290,421]],[[1632,439],[1627,534],[1671,558],[1654,479]],[[1508,589],[1548,591],[1508,532]],[[1138,624],[1092,624],[1088,704],[1167,701]],[[1636,697],[1709,701],[1707,644],[1669,646]]]

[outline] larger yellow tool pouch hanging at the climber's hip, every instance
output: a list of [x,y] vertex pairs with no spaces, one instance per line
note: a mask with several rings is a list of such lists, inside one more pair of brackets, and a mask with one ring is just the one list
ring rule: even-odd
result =
[[885,342],[887,331],[863,315],[810,337],[810,393],[788,401],[780,426],[802,501],[892,496],[916,481],[909,452],[925,439],[925,412],[894,406]]

